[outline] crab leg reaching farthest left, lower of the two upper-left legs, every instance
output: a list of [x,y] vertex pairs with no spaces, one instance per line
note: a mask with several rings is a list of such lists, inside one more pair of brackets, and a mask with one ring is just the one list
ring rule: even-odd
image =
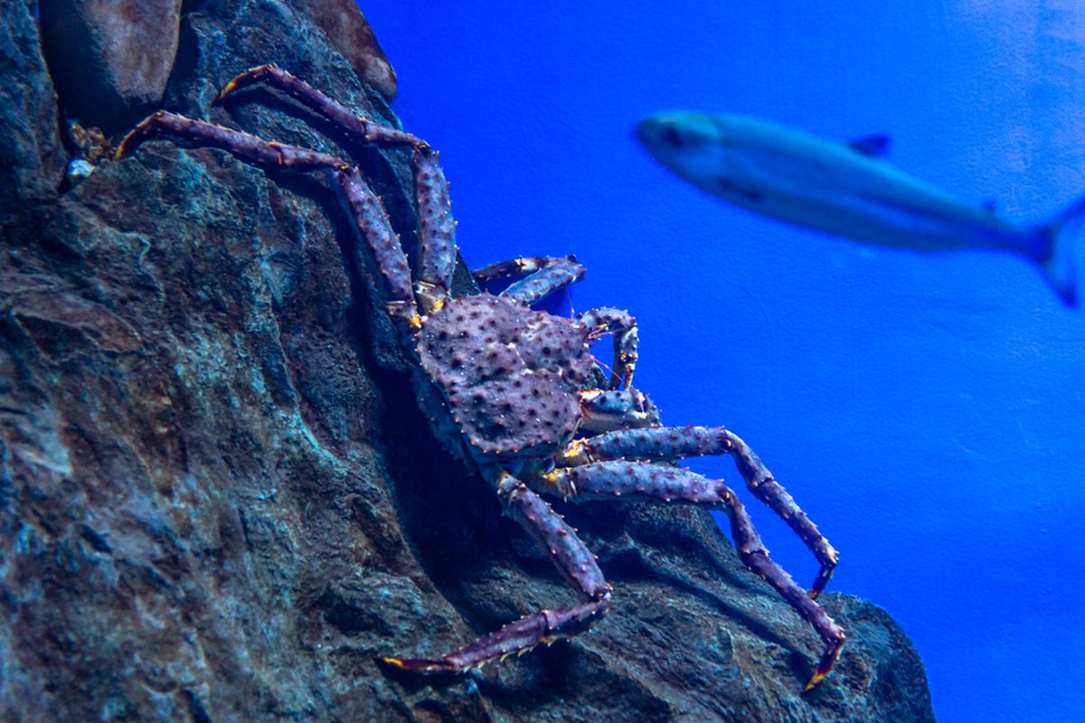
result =
[[356,167],[327,153],[265,141],[240,130],[186,118],[166,111],[158,111],[136,126],[117,146],[117,158],[130,155],[140,143],[161,134],[226,151],[244,163],[264,170],[280,168],[302,171],[331,170],[354,216],[355,223],[372,249],[376,266],[384,276],[388,313],[407,327],[418,325],[419,317],[411,293],[407,257],[399,247],[387,212],[361,179]]

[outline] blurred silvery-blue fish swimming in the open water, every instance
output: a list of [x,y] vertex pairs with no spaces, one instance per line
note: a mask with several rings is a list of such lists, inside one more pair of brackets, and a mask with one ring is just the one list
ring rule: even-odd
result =
[[889,163],[888,135],[839,143],[750,116],[671,112],[641,120],[636,137],[664,168],[736,206],[881,246],[1017,254],[1077,305],[1085,196],[1039,223],[1017,223]]

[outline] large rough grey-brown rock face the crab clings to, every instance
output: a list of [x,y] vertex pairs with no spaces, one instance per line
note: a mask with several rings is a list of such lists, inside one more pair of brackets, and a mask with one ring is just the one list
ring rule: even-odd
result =
[[[845,595],[839,668],[801,697],[819,641],[687,508],[567,511],[615,586],[593,632],[468,677],[375,666],[573,592],[390,370],[324,180],[163,142],[59,194],[35,33],[3,5],[0,719],[933,720],[905,635]],[[272,60],[396,122],[285,0],[194,7],[164,103],[331,150],[266,91],[210,105]],[[407,231],[406,159],[346,151]]]

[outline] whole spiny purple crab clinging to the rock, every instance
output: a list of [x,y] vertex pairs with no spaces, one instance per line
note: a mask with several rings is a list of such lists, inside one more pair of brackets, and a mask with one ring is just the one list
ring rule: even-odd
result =
[[[478,282],[513,283],[500,294],[455,297],[457,257],[448,188],[437,153],[423,140],[352,113],[279,66],[251,68],[222,98],[264,82],[323,117],[345,137],[411,153],[419,214],[419,258],[412,273],[381,201],[359,168],[334,155],[159,111],[122,141],[117,157],[166,135],[226,151],[266,171],[323,170],[337,186],[371,254],[384,300],[412,365],[412,387],[437,438],[488,481],[505,513],[549,552],[580,602],[538,610],[439,658],[384,657],[417,673],[465,672],[539,644],[587,632],[608,612],[611,585],[595,556],[545,496],[572,503],[636,500],[704,505],[725,512],[742,563],[767,581],[825,643],[805,690],[829,674],[844,631],[815,601],[837,566],[837,551],[737,435],[723,426],[663,426],[648,397],[633,386],[638,331],[625,311],[599,308],[571,318],[532,309],[580,279],[569,257],[522,257],[473,272]],[[613,336],[609,382],[592,344]],[[771,560],[735,492],[722,480],[677,466],[678,460],[729,454],[753,495],[783,518],[819,563],[806,591]]]

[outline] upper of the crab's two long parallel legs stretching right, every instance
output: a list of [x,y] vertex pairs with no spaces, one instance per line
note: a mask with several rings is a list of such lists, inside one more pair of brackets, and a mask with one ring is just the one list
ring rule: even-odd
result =
[[709,454],[730,454],[746,487],[797,534],[821,565],[809,590],[817,597],[837,569],[839,554],[783,486],[773,478],[761,459],[738,435],[725,427],[655,427],[623,429],[574,440],[561,455],[563,464],[604,460],[678,460]]

